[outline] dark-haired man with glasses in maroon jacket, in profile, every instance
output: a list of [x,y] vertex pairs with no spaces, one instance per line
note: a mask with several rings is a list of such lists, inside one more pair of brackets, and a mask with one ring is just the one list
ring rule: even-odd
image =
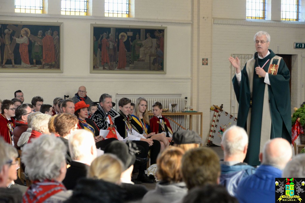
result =
[[18,145],[17,145],[17,142],[18,142],[21,134],[23,132],[27,131],[27,128],[28,128],[28,126],[27,126],[27,117],[29,116],[30,113],[32,113],[32,109],[26,103],[21,104],[15,110],[16,128],[13,131],[13,141],[14,141],[14,146],[17,149],[20,149],[20,147],[18,147]]

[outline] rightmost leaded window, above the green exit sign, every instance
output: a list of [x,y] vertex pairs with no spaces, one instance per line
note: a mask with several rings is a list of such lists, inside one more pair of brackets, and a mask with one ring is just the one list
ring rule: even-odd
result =
[[299,21],[299,0],[282,0],[281,20]]

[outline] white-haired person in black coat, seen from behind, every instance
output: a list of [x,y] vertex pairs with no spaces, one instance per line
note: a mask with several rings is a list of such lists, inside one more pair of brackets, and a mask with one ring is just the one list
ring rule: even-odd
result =
[[81,129],[74,131],[68,140],[71,166],[67,169],[63,184],[73,190],[77,181],[87,176],[91,162],[96,158],[96,146],[92,133]]

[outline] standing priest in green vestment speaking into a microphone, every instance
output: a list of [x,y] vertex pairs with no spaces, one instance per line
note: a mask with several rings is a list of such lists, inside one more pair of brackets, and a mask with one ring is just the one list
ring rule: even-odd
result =
[[284,60],[268,49],[267,32],[256,33],[254,41],[257,58],[247,61],[242,70],[237,57],[229,61],[235,68],[232,82],[239,103],[237,125],[249,136],[245,162],[258,166],[259,153],[269,139],[282,137],[291,143],[290,72]]

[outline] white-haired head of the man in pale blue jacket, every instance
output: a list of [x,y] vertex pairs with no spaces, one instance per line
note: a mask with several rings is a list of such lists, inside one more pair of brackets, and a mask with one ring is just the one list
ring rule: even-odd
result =
[[224,148],[224,153],[228,156],[243,152],[248,142],[248,135],[245,129],[236,125],[226,129],[221,139],[221,145]]

